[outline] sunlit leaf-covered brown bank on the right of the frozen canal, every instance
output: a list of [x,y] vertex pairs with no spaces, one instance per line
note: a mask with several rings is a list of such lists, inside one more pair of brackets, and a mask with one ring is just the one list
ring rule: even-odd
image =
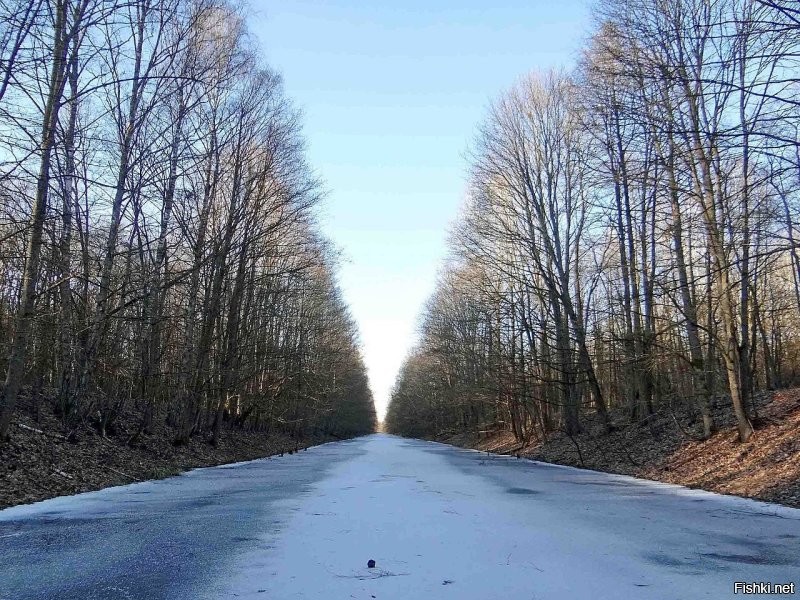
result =
[[531,444],[507,432],[440,441],[800,507],[800,388],[760,394],[754,409],[756,432],[744,444],[727,407],[715,409],[719,431],[700,440],[697,416],[685,405],[666,406],[638,423],[614,413],[610,434],[590,422],[580,435],[557,433]]

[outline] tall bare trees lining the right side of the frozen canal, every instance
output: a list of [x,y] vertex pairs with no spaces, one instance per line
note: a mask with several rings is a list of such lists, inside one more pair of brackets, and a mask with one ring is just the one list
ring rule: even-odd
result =
[[520,441],[800,379],[800,7],[601,0],[496,100],[390,431]]

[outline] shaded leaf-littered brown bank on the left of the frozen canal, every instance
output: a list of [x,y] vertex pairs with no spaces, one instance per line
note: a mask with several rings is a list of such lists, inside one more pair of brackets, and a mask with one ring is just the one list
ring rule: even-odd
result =
[[317,434],[295,440],[234,428],[224,431],[216,446],[197,436],[176,447],[174,431],[163,424],[149,435],[133,436],[138,420],[132,415],[119,419],[114,435],[101,436],[84,424],[68,439],[49,409],[41,409],[34,419],[30,399],[22,400],[10,439],[0,445],[0,508],[262,458],[334,439]]

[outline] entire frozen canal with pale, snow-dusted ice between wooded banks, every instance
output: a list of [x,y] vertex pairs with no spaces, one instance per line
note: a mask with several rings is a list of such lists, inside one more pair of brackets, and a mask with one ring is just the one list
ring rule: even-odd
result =
[[800,510],[387,435],[0,511],[2,600],[675,600],[799,578]]

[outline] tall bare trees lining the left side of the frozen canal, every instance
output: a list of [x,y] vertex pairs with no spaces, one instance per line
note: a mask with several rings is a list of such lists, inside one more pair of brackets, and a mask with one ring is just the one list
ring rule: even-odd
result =
[[0,4],[0,439],[371,431],[298,114],[225,0]]

